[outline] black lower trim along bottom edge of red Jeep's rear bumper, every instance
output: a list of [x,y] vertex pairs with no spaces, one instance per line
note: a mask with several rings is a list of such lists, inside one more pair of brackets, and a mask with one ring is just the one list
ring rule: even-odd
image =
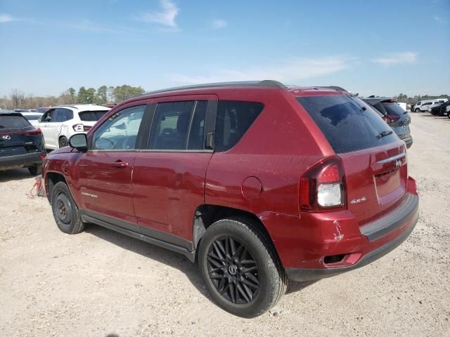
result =
[[360,267],[364,267],[369,263],[372,263],[378,258],[385,256],[390,251],[396,249],[402,242],[404,242],[411,232],[413,232],[414,227],[416,227],[416,223],[418,220],[418,216],[416,216],[416,220],[414,220],[413,225],[403,232],[401,235],[393,239],[391,242],[374,249],[367,253],[359,262],[351,265],[349,267],[337,267],[337,268],[329,268],[329,269],[298,269],[298,268],[290,268],[286,269],[286,274],[288,278],[297,281],[297,282],[305,282],[305,281],[313,281],[316,279],[324,279],[326,277],[332,277],[335,275],[342,274],[343,272],[349,272],[350,270],[354,270]]

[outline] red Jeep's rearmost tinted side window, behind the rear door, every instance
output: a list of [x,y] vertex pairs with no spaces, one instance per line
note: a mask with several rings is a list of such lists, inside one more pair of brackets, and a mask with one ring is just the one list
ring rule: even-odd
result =
[[262,103],[219,100],[214,132],[214,151],[227,151],[236,145],[263,108]]

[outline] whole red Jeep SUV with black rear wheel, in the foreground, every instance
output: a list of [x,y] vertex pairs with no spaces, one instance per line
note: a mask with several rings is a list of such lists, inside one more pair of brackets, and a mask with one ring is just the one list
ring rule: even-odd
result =
[[371,263],[418,219],[406,145],[363,101],[277,81],[117,105],[44,160],[56,224],[94,223],[197,261],[214,301],[255,317],[307,281]]

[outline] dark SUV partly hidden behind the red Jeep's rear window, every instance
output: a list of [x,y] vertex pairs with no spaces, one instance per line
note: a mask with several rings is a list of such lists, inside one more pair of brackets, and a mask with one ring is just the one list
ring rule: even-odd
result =
[[397,136],[406,143],[406,147],[413,145],[413,138],[409,130],[411,117],[409,113],[403,110],[394,98],[376,97],[362,98],[364,102],[373,107],[380,117],[383,118],[391,128],[397,133]]

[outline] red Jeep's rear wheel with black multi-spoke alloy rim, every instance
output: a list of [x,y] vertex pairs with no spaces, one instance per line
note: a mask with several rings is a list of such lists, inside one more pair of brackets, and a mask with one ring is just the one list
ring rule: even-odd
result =
[[272,308],[288,283],[269,239],[256,228],[243,218],[219,220],[206,230],[198,253],[200,273],[214,302],[245,318]]

